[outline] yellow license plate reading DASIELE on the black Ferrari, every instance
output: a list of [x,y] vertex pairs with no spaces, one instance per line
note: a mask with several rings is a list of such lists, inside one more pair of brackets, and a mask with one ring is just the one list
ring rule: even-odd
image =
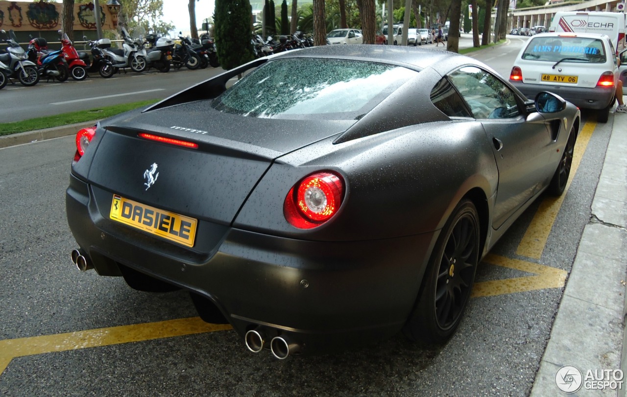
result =
[[198,220],[113,195],[109,217],[179,244],[194,246]]

